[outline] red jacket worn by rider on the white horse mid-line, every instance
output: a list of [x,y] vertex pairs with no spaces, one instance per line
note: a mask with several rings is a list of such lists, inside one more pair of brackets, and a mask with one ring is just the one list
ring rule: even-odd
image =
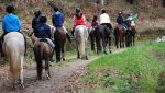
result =
[[84,25],[84,26],[87,27],[87,25],[86,25],[86,23],[85,23],[85,18],[84,18],[84,15],[81,15],[80,18],[77,18],[77,16],[75,15],[75,24],[74,24],[73,30],[75,30],[75,27],[76,27],[77,25]]

